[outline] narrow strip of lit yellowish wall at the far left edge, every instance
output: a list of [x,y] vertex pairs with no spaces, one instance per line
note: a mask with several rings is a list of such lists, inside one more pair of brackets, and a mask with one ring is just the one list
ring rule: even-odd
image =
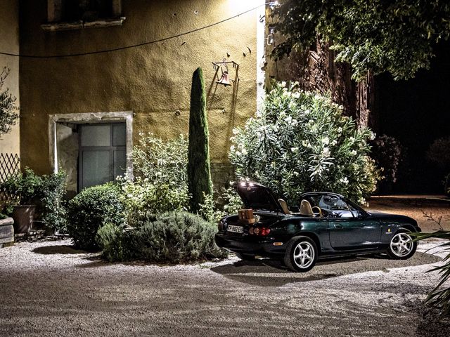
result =
[[[17,0],[0,0],[0,51],[19,52],[19,5]],[[0,70],[8,67],[11,72],[6,78],[2,90],[9,88],[17,98],[19,106],[19,59],[0,55]],[[19,123],[13,126],[11,133],[0,136],[0,152],[18,154],[20,152]]]

